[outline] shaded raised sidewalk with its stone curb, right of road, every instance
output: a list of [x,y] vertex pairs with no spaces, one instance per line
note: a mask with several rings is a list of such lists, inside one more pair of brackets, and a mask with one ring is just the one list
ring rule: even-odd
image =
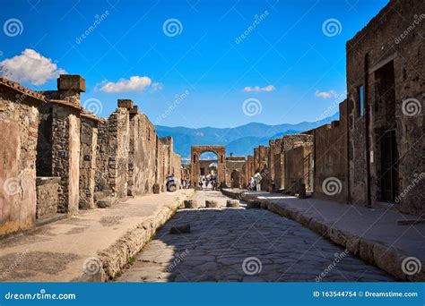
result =
[[227,189],[223,194],[259,200],[264,208],[298,221],[398,279],[425,281],[425,224],[397,225],[412,216],[265,191]]

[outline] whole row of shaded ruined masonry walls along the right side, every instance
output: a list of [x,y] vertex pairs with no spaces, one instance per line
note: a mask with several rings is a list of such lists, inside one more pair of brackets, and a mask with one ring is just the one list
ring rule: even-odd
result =
[[423,215],[424,12],[421,1],[387,4],[347,42],[340,120],[254,149],[247,176],[261,173],[265,191],[305,186],[325,200]]

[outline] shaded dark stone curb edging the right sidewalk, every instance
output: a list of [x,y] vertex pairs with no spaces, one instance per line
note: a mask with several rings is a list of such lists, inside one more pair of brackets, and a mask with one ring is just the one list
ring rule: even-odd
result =
[[[282,205],[277,205],[270,200],[258,199],[256,195],[244,194],[244,191],[223,191],[224,195],[241,200],[258,200],[265,205],[265,208],[278,214],[282,217],[288,217],[294,221],[299,222],[314,231],[317,234],[324,236],[326,239],[343,246],[347,251],[350,251],[354,256],[365,260],[371,265],[383,269],[388,274],[395,276],[399,280],[423,282],[425,281],[425,265],[422,264],[421,272],[408,276],[403,273],[402,262],[403,259],[408,258],[408,255],[400,251],[387,250],[388,246],[381,242],[370,241],[341,228],[333,227],[326,224],[321,220],[314,217],[304,216],[303,212],[291,208],[285,208]],[[382,254],[385,253],[385,256]]]

